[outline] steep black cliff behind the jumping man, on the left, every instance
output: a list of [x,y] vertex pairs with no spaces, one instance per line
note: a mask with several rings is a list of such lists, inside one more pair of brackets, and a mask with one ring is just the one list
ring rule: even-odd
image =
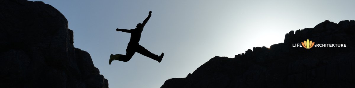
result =
[[40,1],[0,1],[0,88],[108,88],[73,31]]

